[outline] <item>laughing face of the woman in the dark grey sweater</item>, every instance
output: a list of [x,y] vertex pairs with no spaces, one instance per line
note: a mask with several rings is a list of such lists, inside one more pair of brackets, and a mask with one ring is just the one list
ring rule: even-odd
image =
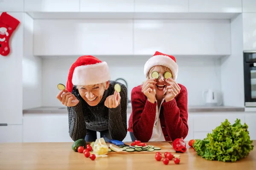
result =
[[80,96],[90,106],[96,106],[102,99],[104,91],[108,89],[109,82],[97,84],[97,85],[84,85],[77,86]]

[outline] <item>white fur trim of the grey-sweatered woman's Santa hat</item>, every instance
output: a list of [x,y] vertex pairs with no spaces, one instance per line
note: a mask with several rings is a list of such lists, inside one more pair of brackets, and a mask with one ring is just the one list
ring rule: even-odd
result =
[[110,80],[107,62],[99,62],[93,65],[81,65],[74,69],[73,85],[96,85]]

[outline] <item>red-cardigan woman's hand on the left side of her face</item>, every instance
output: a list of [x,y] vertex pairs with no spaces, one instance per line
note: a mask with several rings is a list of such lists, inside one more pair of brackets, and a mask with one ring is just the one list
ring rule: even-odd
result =
[[151,103],[155,103],[156,99],[156,84],[155,79],[147,79],[142,86],[142,91],[145,96],[147,96],[148,101]]

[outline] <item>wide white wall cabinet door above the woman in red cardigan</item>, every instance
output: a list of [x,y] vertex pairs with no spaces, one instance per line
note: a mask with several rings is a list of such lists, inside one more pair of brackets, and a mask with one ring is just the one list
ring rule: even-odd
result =
[[230,55],[227,20],[134,20],[134,54]]

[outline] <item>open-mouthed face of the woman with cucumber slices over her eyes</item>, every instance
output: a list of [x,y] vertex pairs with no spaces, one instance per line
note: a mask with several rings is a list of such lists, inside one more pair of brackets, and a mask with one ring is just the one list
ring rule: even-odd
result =
[[148,78],[152,79],[152,73],[154,71],[157,71],[159,73],[159,78],[156,79],[155,81],[157,82],[156,84],[156,96],[164,96],[166,93],[166,87],[168,86],[168,83],[166,82],[166,79],[164,78],[164,74],[166,71],[169,71],[170,73],[172,73],[172,71],[164,66],[154,66],[150,69],[149,74],[148,74]]

